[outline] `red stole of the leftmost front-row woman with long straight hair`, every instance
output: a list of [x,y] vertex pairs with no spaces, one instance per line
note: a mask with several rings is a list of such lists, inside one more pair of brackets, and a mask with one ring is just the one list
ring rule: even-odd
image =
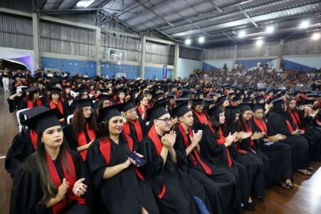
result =
[[[73,203],[74,201],[76,201],[77,202],[76,204],[86,204],[85,199],[73,194],[73,184],[76,182],[76,170],[75,170],[75,165],[73,164],[73,158],[68,153],[68,151],[65,151],[65,152],[66,152],[67,163],[71,170],[71,174],[68,173],[66,166],[63,164],[61,156],[60,156],[60,161],[63,168],[63,175],[66,178],[66,181],[69,183],[69,187],[66,193],[66,198],[68,198],[68,203]],[[61,180],[59,178],[56,166],[54,165],[54,161],[51,160],[48,154],[46,154],[46,162],[49,167],[51,181],[58,188],[58,186],[61,185]],[[67,205],[66,198],[64,198],[63,200],[59,201],[58,203],[52,206],[52,211],[54,214],[59,213],[61,210],[63,210],[63,208],[66,207]]]

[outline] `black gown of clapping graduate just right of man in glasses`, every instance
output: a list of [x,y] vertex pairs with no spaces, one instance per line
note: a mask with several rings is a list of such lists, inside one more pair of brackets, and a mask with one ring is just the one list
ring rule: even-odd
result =
[[[240,201],[238,200],[238,194],[236,192],[237,183],[234,175],[218,167],[218,165],[206,163],[201,156],[200,159],[208,165],[212,173],[210,175],[205,173],[200,163],[194,165],[191,156],[186,156],[186,146],[180,129],[176,128],[175,132],[177,136],[174,148],[178,161],[177,165],[181,170],[192,175],[193,178],[203,185],[206,190],[206,195],[208,195],[210,199],[213,213],[239,213]],[[191,143],[189,135],[188,142],[189,144]],[[195,151],[191,153],[195,153]]]

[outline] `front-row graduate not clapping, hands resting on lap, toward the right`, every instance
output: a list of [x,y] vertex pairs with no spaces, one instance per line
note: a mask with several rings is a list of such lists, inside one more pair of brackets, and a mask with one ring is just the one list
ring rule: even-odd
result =
[[293,188],[292,184],[292,163],[291,148],[280,141],[286,136],[277,134],[268,136],[267,124],[263,120],[263,104],[253,106],[253,118],[250,121],[252,131],[264,133],[263,138],[255,141],[255,151],[264,153],[269,161],[267,179],[270,183],[282,185],[283,188]]

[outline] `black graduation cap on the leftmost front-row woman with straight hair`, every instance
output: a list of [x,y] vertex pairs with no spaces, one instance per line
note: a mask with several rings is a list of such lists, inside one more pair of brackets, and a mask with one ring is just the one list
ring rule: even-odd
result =
[[47,128],[61,126],[59,119],[63,118],[58,108],[50,109],[45,106],[36,106],[24,111],[23,114],[29,118],[22,124],[37,134],[43,133]]

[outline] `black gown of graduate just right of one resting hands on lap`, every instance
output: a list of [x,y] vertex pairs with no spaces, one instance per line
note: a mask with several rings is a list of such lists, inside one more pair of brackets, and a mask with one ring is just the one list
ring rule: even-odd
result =
[[267,118],[267,135],[276,134],[287,136],[279,143],[285,143],[291,147],[292,170],[305,169],[309,163],[309,144],[300,136],[292,136],[285,119],[280,114],[271,112]]

